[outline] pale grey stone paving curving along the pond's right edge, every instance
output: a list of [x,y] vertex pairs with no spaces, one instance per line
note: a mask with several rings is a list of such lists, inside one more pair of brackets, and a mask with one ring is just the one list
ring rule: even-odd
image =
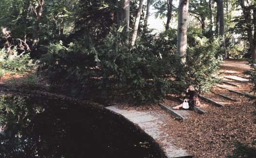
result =
[[106,109],[123,116],[129,123],[145,132],[160,147],[162,158],[192,158],[194,156],[170,141],[172,136],[165,132],[168,129],[162,120],[168,115],[158,111],[124,110],[117,106],[106,107]]

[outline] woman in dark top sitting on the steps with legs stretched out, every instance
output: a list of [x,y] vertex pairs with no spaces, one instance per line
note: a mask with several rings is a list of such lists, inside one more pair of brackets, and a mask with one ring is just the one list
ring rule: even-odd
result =
[[[197,107],[201,106],[197,92],[195,91],[193,85],[188,86],[184,100],[188,102],[188,106],[190,110],[193,110],[194,106],[197,106]],[[183,103],[176,107],[172,107],[172,109],[179,110],[182,106],[183,106]]]

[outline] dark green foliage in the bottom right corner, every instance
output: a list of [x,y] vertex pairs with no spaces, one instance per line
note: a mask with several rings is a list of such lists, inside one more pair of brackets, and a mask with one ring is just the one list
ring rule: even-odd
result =
[[250,147],[241,142],[234,143],[236,149],[233,150],[233,155],[228,155],[227,158],[256,158],[256,148]]

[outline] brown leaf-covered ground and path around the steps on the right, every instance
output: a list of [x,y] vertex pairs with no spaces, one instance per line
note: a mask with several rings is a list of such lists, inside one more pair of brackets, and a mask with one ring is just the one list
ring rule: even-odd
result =
[[[253,105],[255,100],[227,90],[242,93],[251,91],[253,84],[242,74],[250,66],[246,62],[224,61],[220,68],[223,80],[232,81],[233,85],[218,85],[222,88],[216,86],[211,93],[203,96],[222,104],[222,107],[201,100],[202,109],[208,113],[190,111],[190,118],[183,122],[170,118],[165,121],[169,126],[168,134],[174,136],[173,143],[194,153],[195,158],[225,158],[227,154],[232,154],[235,141],[253,145],[252,141],[255,140],[256,124],[253,121],[256,116],[252,114],[252,111],[256,111],[256,106]],[[223,95],[234,100],[224,98]],[[177,104],[170,100],[164,102],[170,106]]]

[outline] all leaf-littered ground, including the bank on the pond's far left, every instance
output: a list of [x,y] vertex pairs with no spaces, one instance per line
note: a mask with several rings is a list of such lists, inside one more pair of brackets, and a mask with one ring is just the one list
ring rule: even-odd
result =
[[[221,64],[220,71],[226,76],[244,76],[242,72],[248,70],[241,61],[225,61]],[[75,98],[50,93],[47,90],[47,82],[43,79],[36,79],[33,75],[12,75],[6,74],[0,79],[0,93],[20,94],[20,95],[46,95],[53,98],[64,98],[76,100]],[[32,82],[31,80],[34,80]],[[236,88],[239,91],[249,93],[252,83],[250,81],[235,82],[239,84]],[[184,120],[178,121],[173,116],[165,118],[165,131],[173,136],[173,143],[178,147],[195,154],[195,158],[225,158],[227,154],[232,154],[234,142],[239,141],[248,145],[253,145],[256,141],[256,116],[252,114],[256,111],[253,104],[255,100],[243,95],[237,95],[226,92],[225,89],[214,87],[213,91],[228,93],[237,99],[237,101],[224,100],[223,107],[217,107],[212,104],[201,101],[202,108],[207,111],[206,114],[198,114],[191,111],[191,116]],[[212,96],[212,93],[206,94]],[[162,102],[171,106],[180,104],[177,98],[180,96],[168,94]],[[218,96],[213,96],[218,97]],[[116,103],[117,106],[124,109],[136,109],[137,111],[160,111],[166,113],[157,104],[151,106],[133,107],[125,103]],[[167,113],[166,113],[167,114]],[[165,126],[165,127],[166,127]]]

